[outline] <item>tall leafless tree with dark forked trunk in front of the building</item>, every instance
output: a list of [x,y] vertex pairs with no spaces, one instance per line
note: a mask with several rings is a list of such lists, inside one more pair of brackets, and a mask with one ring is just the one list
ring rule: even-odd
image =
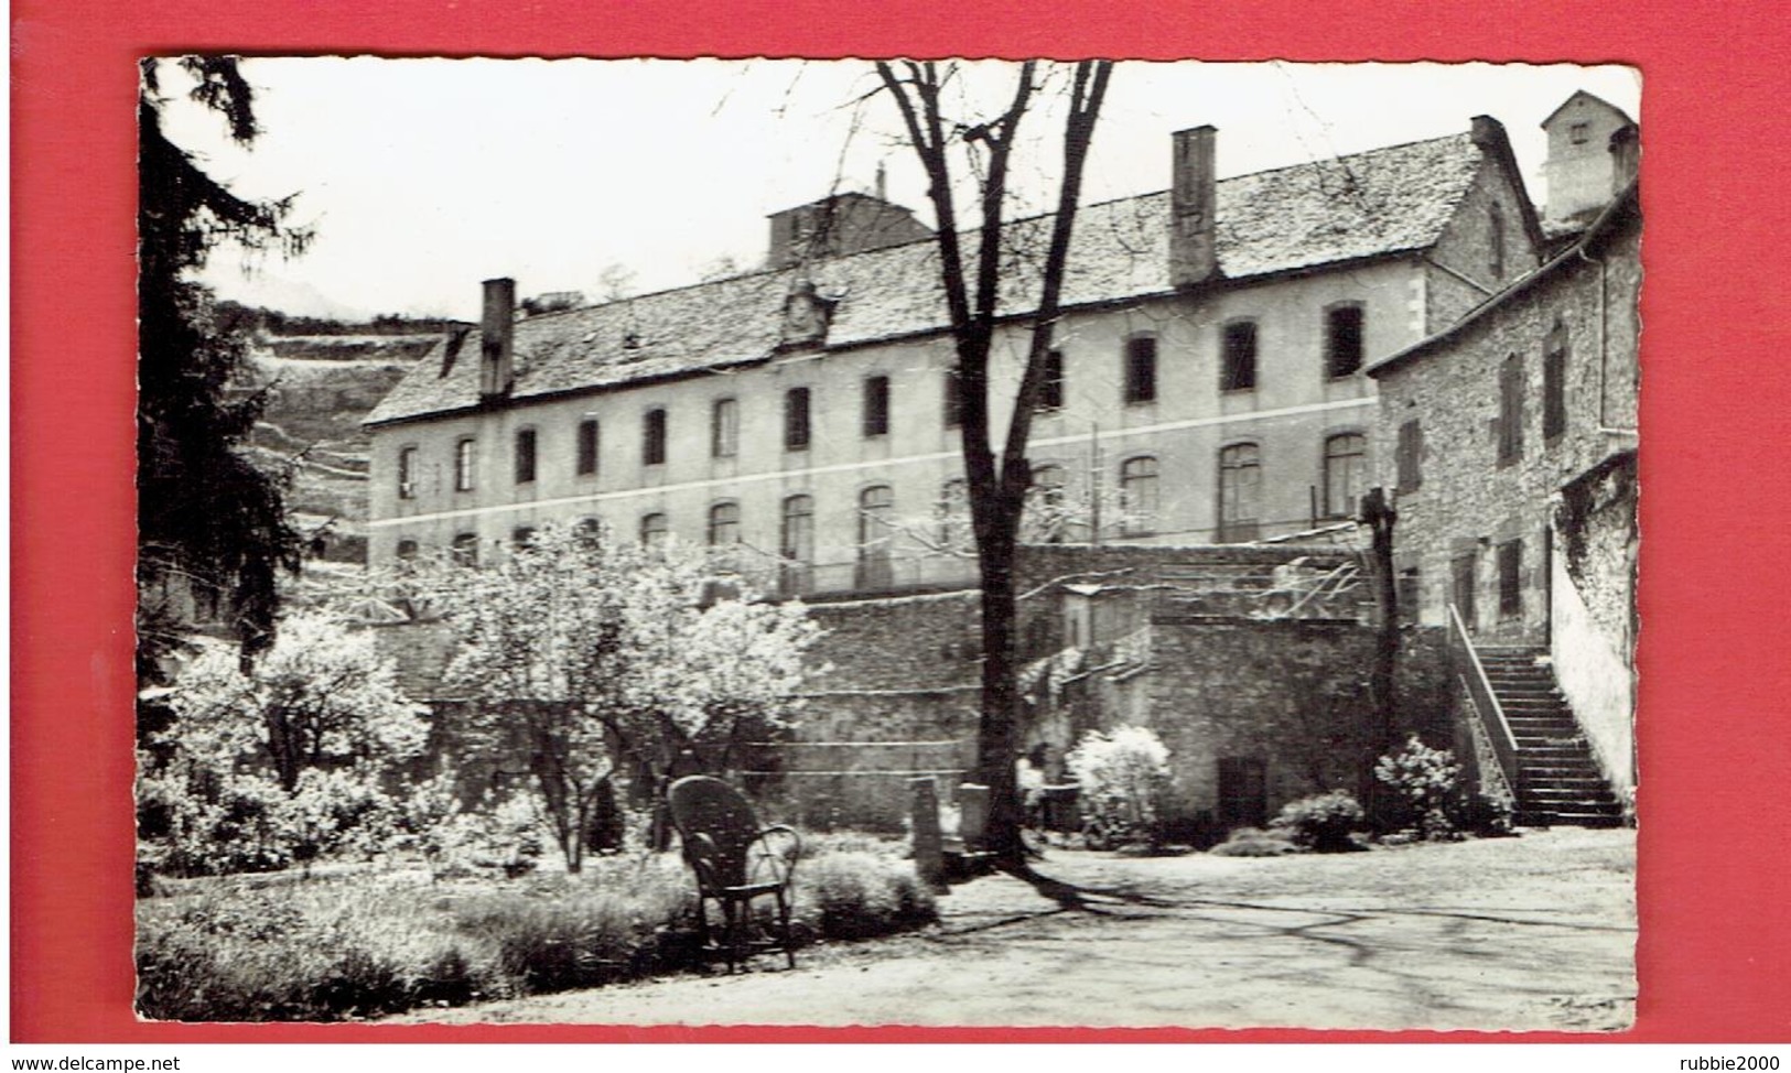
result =
[[[999,455],[990,426],[989,355],[998,317],[1003,313],[998,310],[1003,272],[1012,263],[1012,256],[1005,256],[1012,251],[1003,245],[1003,208],[1021,122],[1033,107],[1041,88],[1039,64],[1035,61],[1021,64],[1008,104],[990,120],[953,122],[946,116],[942,91],[956,73],[956,66],[949,63],[878,63],[883,90],[901,111],[908,143],[926,170],[928,199],[937,217],[935,242],[956,344],[956,376],[964,399],[960,425],[964,473],[969,484],[971,528],[976,536],[981,580],[983,679],[978,777],[990,790],[989,849],[1005,867],[1021,869],[1024,846],[1019,837],[1021,803],[1014,776],[1019,742],[1014,557],[1019,548],[1026,491],[1032,485],[1026,442],[1033,408],[1044,391],[1044,358],[1051,349],[1058,317],[1069,235],[1082,193],[1082,167],[1107,95],[1112,63],[1093,59],[1080,61],[1073,68],[1057,213],[1050,220],[1050,245],[1039,269],[1039,297],[1030,312],[1032,339]],[[974,236],[962,233],[956,222],[953,143],[962,143],[973,159],[980,161],[976,176],[980,227]],[[965,251],[967,240],[974,244],[974,251]]]

